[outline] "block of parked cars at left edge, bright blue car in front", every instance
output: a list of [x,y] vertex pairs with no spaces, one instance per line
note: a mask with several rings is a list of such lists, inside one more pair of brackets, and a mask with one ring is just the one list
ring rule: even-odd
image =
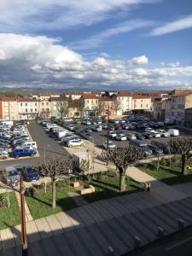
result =
[[34,156],[37,154],[37,143],[32,141],[24,121],[0,123],[0,159],[6,160],[10,156]]

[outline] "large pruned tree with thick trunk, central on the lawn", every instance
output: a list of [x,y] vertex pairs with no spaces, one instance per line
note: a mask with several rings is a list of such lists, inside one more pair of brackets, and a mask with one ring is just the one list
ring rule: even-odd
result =
[[102,158],[111,161],[119,170],[119,190],[125,191],[125,173],[131,164],[144,157],[143,149],[129,146],[128,148],[108,148]]

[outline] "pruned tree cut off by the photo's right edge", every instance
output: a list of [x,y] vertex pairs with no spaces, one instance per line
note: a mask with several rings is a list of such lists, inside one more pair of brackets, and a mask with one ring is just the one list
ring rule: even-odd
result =
[[192,157],[192,138],[181,137],[170,140],[170,146],[176,154],[181,155],[182,160],[182,174],[185,174],[187,160]]

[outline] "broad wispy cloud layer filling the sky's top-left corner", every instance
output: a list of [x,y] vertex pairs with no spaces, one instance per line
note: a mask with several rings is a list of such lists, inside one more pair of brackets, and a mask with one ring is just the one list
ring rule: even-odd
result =
[[28,32],[90,26],[111,17],[113,11],[131,9],[160,0],[1,0],[1,32]]

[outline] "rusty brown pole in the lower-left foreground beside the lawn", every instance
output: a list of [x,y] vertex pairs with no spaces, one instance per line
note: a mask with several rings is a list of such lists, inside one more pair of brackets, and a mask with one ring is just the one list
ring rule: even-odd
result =
[[20,230],[22,242],[22,256],[28,255],[27,236],[26,236],[26,211],[24,202],[25,187],[23,183],[23,176],[20,175]]

